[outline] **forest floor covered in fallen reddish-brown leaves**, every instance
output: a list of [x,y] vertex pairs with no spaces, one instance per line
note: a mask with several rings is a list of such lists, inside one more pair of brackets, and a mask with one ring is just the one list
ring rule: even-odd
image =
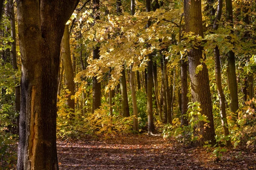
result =
[[[57,142],[60,170],[256,170],[256,151],[188,147],[162,136],[123,136],[108,140]],[[210,151],[209,151],[210,150]]]

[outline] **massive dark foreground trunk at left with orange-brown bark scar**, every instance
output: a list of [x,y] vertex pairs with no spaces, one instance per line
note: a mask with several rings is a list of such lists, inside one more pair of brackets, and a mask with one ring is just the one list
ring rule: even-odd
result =
[[58,170],[56,101],[60,45],[65,23],[77,3],[78,0],[17,0],[22,61],[17,170]]

